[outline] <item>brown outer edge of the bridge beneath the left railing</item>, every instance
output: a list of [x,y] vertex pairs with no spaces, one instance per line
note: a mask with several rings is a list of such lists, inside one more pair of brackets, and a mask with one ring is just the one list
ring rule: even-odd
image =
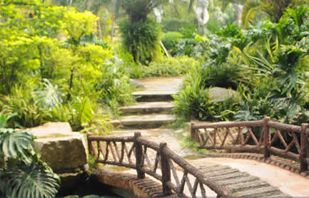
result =
[[[162,184],[147,177],[145,179],[138,179],[136,174],[115,172],[112,170],[97,170],[92,175],[98,182],[120,189],[126,189],[135,197],[165,197]],[[176,194],[168,197],[176,197]]]

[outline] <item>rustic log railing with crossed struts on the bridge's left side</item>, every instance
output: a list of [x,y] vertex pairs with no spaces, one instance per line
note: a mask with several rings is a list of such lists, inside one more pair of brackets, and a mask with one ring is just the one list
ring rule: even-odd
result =
[[[220,184],[168,149],[166,143],[158,145],[146,140],[140,132],[135,132],[133,137],[88,134],[87,139],[89,152],[96,157],[96,162],[135,169],[140,179],[148,174],[162,182],[166,196],[175,192],[179,197],[206,197],[207,186],[218,197],[228,197]],[[178,177],[180,173],[182,177]]]

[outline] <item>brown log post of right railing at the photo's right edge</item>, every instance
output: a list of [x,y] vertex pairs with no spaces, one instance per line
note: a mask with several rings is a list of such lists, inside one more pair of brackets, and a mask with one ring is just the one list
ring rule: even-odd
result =
[[308,157],[308,135],[306,130],[308,129],[308,124],[303,123],[301,125],[301,132],[300,132],[300,172],[308,171],[308,162],[305,161],[305,158]]

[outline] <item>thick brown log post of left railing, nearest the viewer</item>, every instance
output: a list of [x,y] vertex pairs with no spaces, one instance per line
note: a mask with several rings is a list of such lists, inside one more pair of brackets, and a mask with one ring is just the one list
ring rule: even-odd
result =
[[167,183],[171,182],[171,166],[168,156],[166,156],[163,150],[166,148],[166,143],[160,143],[160,159],[161,159],[161,171],[162,171],[162,186],[163,194],[168,196],[172,194],[172,189],[168,187]]

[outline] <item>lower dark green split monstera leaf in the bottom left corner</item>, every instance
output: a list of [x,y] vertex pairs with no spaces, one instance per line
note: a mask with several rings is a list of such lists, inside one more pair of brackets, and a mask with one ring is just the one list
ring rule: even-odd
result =
[[0,172],[0,191],[6,197],[55,197],[59,184],[59,176],[43,164],[9,167]]

